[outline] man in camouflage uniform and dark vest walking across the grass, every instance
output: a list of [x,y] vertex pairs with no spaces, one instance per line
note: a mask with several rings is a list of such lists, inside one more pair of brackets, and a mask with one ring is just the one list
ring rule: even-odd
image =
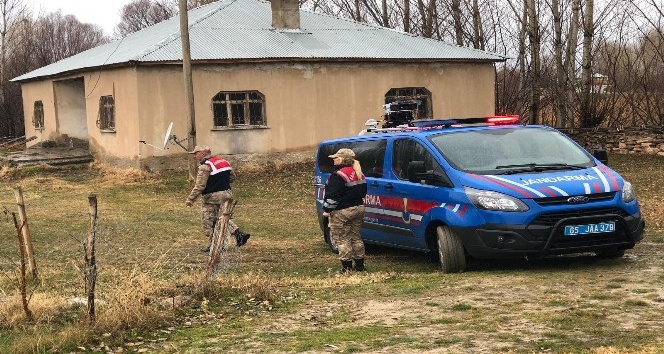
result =
[[[196,160],[200,161],[194,188],[189,193],[185,205],[191,207],[199,196],[202,196],[201,219],[203,221],[203,233],[212,241],[214,227],[219,220],[221,206],[229,199],[233,199],[231,182],[235,174],[231,165],[225,159],[213,156],[207,146],[196,146],[192,152]],[[248,233],[240,230],[233,220],[228,220],[228,231],[235,236],[237,246],[243,246],[249,239]],[[209,244],[209,243],[208,243]],[[210,246],[201,249],[209,252]]]

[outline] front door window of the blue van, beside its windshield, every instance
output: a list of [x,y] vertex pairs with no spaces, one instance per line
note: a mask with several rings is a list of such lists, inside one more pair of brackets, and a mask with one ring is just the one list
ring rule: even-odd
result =
[[408,179],[408,163],[411,161],[424,161],[427,171],[445,175],[443,168],[422,144],[412,139],[395,140],[392,151],[392,171],[399,179]]

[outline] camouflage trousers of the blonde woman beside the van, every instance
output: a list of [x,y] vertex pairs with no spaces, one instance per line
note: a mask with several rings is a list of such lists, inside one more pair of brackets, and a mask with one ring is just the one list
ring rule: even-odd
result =
[[364,242],[360,228],[364,219],[364,205],[330,213],[330,237],[339,249],[339,259],[350,261],[364,258]]

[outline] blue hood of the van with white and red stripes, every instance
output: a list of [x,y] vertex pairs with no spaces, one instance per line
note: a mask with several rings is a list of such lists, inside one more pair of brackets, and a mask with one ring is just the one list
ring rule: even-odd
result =
[[464,186],[491,190],[517,198],[551,198],[617,192],[623,179],[613,170],[597,165],[584,170],[547,171],[513,175],[478,175],[466,173]]

